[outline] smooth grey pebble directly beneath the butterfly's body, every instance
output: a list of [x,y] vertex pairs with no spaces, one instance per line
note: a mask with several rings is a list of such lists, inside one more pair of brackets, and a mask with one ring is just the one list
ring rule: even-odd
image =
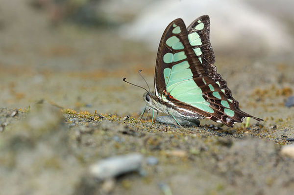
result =
[[186,126],[196,126],[200,125],[200,121],[197,119],[184,120],[181,118],[175,118],[173,116],[159,116],[156,118],[156,121],[159,123],[170,124],[170,125],[186,125]]

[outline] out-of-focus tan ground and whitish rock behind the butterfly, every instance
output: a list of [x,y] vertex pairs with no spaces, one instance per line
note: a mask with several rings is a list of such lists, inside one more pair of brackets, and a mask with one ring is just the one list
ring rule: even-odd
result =
[[[0,107],[47,100],[61,108],[141,113],[153,90],[156,52],[166,26],[211,20],[218,72],[235,99],[259,90],[293,90],[292,0],[1,0]],[[241,99],[241,100],[240,100]],[[241,104],[241,108],[242,108]],[[250,108],[245,108],[248,111]]]

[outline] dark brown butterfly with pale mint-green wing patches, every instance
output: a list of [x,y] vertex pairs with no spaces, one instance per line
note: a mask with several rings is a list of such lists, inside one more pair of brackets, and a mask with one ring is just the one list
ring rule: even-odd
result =
[[263,121],[239,108],[226,81],[217,73],[209,33],[207,15],[188,28],[182,19],[167,26],[157,53],[155,92],[147,91],[143,96],[147,106],[171,115],[175,121],[208,118],[228,127],[242,123],[245,117]]

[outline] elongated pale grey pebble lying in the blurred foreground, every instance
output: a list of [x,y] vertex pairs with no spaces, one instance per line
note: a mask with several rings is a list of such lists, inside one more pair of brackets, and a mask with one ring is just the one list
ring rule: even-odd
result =
[[139,172],[142,162],[143,155],[140,153],[113,156],[90,166],[90,173],[98,180],[105,180],[123,173]]

